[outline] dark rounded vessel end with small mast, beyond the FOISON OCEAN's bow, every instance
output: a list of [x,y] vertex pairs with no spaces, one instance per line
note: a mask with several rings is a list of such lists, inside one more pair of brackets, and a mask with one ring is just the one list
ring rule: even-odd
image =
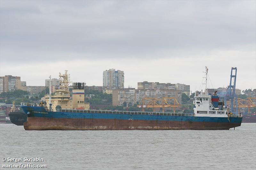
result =
[[24,122],[27,121],[27,115],[22,111],[16,111],[15,109],[15,101],[12,102],[12,109],[9,112],[10,121],[13,124],[21,126]]

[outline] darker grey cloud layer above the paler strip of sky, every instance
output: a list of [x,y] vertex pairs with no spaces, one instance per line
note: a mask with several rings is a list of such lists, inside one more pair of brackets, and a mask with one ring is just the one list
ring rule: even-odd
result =
[[255,1],[1,1],[0,14],[2,61],[58,60],[58,53],[148,58],[255,46],[256,39]]

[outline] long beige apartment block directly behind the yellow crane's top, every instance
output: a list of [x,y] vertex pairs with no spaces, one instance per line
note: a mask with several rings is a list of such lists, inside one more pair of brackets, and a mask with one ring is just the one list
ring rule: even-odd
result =
[[145,97],[175,97],[176,100],[181,103],[181,90],[172,89],[115,89],[112,92],[112,103],[114,106],[121,106],[124,102],[126,103],[140,103],[140,101]]

